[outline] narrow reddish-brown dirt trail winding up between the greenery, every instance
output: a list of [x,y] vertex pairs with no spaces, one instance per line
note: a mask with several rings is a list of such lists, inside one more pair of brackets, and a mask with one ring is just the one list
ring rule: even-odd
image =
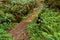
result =
[[29,40],[26,26],[34,19],[36,15],[38,15],[37,13],[39,12],[39,9],[42,8],[42,4],[39,0],[36,0],[36,3],[39,8],[34,10],[28,18],[16,25],[12,30],[8,31],[8,33],[12,34],[14,40]]

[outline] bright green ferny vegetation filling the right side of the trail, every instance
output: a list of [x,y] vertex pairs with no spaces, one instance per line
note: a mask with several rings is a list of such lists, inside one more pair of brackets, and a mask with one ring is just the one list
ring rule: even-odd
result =
[[30,40],[60,40],[60,12],[55,8],[51,9],[49,4],[44,5],[38,20],[27,26],[29,38]]

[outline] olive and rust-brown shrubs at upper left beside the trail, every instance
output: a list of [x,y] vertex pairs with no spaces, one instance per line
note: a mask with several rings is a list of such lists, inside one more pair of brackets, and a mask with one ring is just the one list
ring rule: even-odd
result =
[[6,0],[0,3],[0,9],[4,13],[13,14],[16,22],[22,20],[22,16],[27,15],[28,12],[35,7],[35,0]]

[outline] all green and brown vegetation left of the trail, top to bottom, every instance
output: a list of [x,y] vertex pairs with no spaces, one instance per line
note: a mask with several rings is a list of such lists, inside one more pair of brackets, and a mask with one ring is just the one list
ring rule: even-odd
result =
[[0,40],[13,40],[6,31],[23,20],[35,4],[35,0],[0,0]]

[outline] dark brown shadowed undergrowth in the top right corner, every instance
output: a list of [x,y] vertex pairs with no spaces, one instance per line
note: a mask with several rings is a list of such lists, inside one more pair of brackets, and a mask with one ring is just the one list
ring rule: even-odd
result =
[[60,9],[60,0],[44,0],[44,2],[51,8]]

